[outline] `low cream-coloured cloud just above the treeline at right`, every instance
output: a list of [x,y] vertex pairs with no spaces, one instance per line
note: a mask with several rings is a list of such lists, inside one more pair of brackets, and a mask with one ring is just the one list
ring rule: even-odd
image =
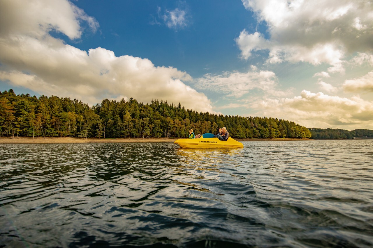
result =
[[296,120],[305,127],[373,128],[373,102],[358,96],[348,99],[303,90],[294,98],[264,99],[258,107],[266,116]]

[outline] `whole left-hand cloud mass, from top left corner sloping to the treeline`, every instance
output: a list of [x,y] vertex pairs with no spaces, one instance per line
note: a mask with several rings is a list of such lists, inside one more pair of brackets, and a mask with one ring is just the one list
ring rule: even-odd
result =
[[100,47],[87,53],[53,38],[51,30],[79,38],[83,21],[93,30],[98,27],[94,18],[69,1],[5,0],[0,2],[0,10],[0,80],[88,104],[103,98],[134,97],[141,102],[181,102],[187,108],[213,112],[203,93],[182,82],[191,80],[185,72],[156,67],[146,58],[117,57]]

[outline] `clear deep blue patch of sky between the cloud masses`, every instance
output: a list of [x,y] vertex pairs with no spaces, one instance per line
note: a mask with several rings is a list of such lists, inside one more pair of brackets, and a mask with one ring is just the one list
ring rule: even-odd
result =
[[[87,40],[78,44],[67,39],[68,44],[148,58],[155,66],[172,66],[192,77],[248,67],[238,57],[234,39],[245,28],[255,31],[257,23],[241,1],[101,2],[74,2],[96,18],[100,31],[86,34]],[[169,27],[163,16],[175,9],[185,11],[185,20]]]

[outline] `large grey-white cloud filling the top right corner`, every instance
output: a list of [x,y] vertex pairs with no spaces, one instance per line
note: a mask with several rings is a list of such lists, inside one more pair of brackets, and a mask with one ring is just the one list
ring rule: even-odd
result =
[[[344,72],[348,54],[373,48],[373,4],[368,0],[242,0],[258,21],[265,21],[270,38],[242,31],[236,43],[243,58],[269,50],[269,63],[327,63],[330,73]],[[259,42],[260,41],[260,42]]]

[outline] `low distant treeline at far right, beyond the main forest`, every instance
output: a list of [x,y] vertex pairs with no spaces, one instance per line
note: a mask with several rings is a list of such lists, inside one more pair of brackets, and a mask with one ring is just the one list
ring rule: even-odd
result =
[[311,131],[312,139],[352,139],[353,137],[373,137],[373,130],[369,129],[355,129],[352,131],[315,127],[308,129]]

